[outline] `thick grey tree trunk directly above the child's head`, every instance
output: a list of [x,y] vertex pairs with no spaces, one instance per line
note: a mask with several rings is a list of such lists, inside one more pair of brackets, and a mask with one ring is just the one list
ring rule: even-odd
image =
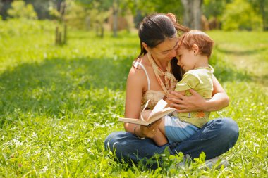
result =
[[183,25],[190,29],[201,29],[202,0],[181,0],[184,8]]

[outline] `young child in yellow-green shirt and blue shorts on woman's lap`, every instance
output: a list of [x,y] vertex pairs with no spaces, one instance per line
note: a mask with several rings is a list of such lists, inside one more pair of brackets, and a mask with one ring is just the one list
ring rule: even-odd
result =
[[[200,30],[191,30],[179,37],[177,50],[178,65],[185,71],[183,78],[176,84],[175,91],[190,96],[189,89],[194,89],[203,98],[212,98],[212,66],[208,64],[214,42]],[[143,117],[147,118],[150,110]],[[158,146],[181,142],[195,134],[209,120],[209,112],[175,113],[163,118],[154,141]]]

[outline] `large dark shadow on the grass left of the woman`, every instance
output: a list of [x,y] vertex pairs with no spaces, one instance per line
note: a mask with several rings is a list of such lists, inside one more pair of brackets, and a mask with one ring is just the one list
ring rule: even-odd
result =
[[108,89],[124,91],[130,66],[130,58],[50,58],[6,70],[0,75],[0,126],[16,112],[58,115],[90,106]]

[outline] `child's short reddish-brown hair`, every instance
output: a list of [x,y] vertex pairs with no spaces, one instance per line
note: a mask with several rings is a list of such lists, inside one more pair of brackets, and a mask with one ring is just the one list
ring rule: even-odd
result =
[[185,32],[178,39],[179,46],[192,50],[194,44],[199,47],[199,54],[209,58],[212,54],[213,40],[205,32],[200,30],[190,30]]

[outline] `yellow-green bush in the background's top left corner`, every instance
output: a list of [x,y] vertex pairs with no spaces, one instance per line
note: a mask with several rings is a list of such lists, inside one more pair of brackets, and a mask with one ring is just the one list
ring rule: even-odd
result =
[[13,1],[11,9],[8,9],[8,15],[12,18],[37,18],[37,14],[35,13],[32,4],[25,5],[25,1]]

